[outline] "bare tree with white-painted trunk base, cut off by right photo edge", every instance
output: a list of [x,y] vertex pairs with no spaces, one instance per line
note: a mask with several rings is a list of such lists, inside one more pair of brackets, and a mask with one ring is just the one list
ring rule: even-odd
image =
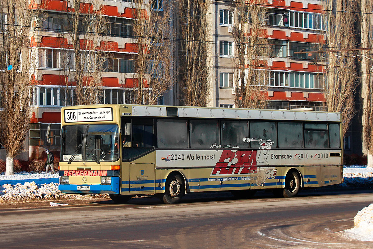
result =
[[[361,44],[373,47],[372,3],[361,0]],[[363,99],[363,145],[367,150],[368,167],[373,167],[373,52],[365,50],[361,61]]]

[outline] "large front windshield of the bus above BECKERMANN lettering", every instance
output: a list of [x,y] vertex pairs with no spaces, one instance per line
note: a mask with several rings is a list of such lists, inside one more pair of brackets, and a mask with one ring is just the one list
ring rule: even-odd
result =
[[61,161],[116,161],[119,158],[116,124],[68,125],[62,128]]

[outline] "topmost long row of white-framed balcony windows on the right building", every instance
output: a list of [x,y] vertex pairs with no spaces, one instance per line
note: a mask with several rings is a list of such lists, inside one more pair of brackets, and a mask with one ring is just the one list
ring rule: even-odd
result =
[[290,11],[289,17],[290,27],[325,30],[321,14]]

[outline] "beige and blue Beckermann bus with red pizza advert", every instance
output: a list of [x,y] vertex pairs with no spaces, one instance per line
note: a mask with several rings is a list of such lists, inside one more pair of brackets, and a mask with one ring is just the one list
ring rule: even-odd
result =
[[153,105],[62,108],[59,190],[116,203],[192,192],[294,197],[343,181],[337,112]]

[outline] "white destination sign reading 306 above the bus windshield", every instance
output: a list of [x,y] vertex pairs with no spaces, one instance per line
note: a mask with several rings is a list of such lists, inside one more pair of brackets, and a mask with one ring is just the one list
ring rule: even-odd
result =
[[113,121],[113,109],[111,107],[89,109],[66,109],[64,111],[66,123]]

